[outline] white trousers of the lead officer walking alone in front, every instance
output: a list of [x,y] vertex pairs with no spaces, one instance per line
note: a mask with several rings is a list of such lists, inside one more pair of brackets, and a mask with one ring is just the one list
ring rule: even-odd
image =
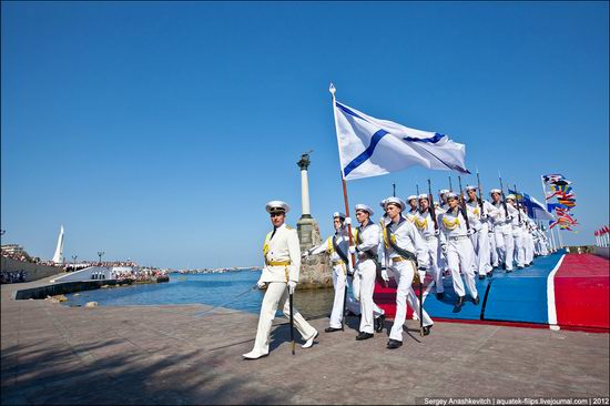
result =
[[[254,342],[254,351],[261,354],[270,352],[270,333],[271,325],[275,318],[277,306],[281,306],[284,316],[291,318],[291,305],[288,301],[288,290],[285,282],[270,282],[263,304],[261,306],[261,316],[258,317],[258,329],[256,331],[256,341]],[[294,326],[301,333],[303,339],[307,341],[316,334],[316,329],[312,327],[307,321],[293,308]]]

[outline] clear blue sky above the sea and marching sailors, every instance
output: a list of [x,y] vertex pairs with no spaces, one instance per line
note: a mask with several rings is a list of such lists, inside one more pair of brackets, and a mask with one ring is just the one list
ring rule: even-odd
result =
[[[448,134],[484,190],[541,200],[573,182],[581,225],[608,223],[607,2],[2,2],[2,243],[50,258],[172,267],[262,262],[270,200],[343,210],[328,83],[369,115]],[[405,197],[409,169],[348,182]],[[451,174],[454,185],[456,174]],[[475,176],[464,183],[476,182]]]

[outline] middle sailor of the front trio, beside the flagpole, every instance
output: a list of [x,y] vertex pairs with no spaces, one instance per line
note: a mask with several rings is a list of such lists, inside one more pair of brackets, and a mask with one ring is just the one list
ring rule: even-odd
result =
[[354,274],[354,296],[360,302],[360,326],[357,341],[373,338],[375,277],[377,276],[377,247],[379,246],[379,226],[370,216],[373,209],[366,204],[356,204],[356,220],[360,224],[354,231],[355,246],[349,253],[356,256],[356,272]]

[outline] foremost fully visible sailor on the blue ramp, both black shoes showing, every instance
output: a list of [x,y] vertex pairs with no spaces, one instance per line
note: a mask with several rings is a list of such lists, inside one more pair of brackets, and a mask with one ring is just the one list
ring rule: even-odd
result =
[[[466,295],[464,283],[459,274],[460,268],[464,273],[466,286],[472,297],[472,302],[477,305],[479,304],[479,295],[475,285],[475,273],[472,266],[474,250],[472,243],[468,238],[468,234],[471,234],[472,229],[469,230],[470,233],[466,229],[466,221],[461,210],[458,207],[457,195],[455,193],[448,193],[447,201],[449,204],[449,210],[439,215],[438,224],[441,230],[440,246],[447,255],[447,263],[454,280],[454,291],[458,295],[456,306],[459,307],[464,304],[464,298]],[[471,220],[470,216],[468,216],[468,220]]]

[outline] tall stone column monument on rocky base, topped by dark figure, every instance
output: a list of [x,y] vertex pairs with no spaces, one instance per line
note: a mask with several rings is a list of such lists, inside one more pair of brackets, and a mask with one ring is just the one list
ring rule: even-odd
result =
[[[309,153],[301,155],[296,163],[301,169],[301,205],[302,215],[296,222],[298,241],[301,242],[301,252],[305,252],[322,241],[319,237],[319,226],[309,211],[309,180],[307,179],[307,169],[312,161]],[[333,286],[333,276],[328,255],[322,254],[304,260],[301,267],[301,278],[298,286],[301,288],[315,288]]]

